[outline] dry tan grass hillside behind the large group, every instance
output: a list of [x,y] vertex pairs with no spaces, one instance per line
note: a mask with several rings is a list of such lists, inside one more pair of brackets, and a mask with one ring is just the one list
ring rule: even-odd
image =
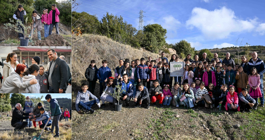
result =
[[[97,68],[102,66],[102,60],[108,60],[108,67],[113,71],[118,66],[119,59],[130,61],[140,58],[148,59],[161,57],[160,54],[151,53],[144,49],[135,49],[129,45],[113,41],[106,36],[84,34],[72,37],[72,79],[73,91],[80,90],[79,86],[85,78],[85,70],[91,60],[96,61]],[[171,58],[170,54],[166,54]],[[114,73],[113,73],[114,74]],[[78,89],[77,89],[78,88]]]

